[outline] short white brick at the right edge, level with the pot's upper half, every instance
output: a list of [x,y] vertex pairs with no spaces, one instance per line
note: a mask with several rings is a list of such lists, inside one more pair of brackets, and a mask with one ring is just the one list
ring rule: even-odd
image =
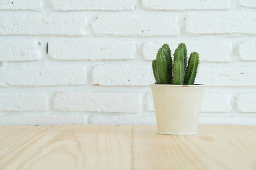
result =
[[237,97],[237,109],[240,112],[256,113],[256,93],[248,93]]

